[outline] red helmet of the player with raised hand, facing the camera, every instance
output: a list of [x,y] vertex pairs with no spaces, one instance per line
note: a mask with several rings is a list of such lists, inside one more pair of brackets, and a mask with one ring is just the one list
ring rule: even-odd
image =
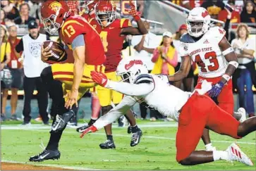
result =
[[[106,27],[116,20],[116,6],[112,1],[99,1],[95,7],[95,15],[99,25]],[[104,20],[107,20],[106,25],[102,24]]]

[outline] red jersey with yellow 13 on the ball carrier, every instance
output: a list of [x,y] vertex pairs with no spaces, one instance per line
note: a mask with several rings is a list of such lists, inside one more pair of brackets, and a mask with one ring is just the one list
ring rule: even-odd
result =
[[80,15],[69,17],[59,32],[61,40],[71,48],[75,37],[83,34],[85,39],[85,63],[88,65],[102,65],[106,60],[104,47],[99,34],[85,18]]

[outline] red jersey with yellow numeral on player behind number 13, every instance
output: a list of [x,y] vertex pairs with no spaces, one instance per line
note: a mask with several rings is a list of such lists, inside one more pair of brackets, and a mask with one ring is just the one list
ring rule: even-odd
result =
[[121,36],[121,30],[125,27],[130,27],[130,20],[126,18],[116,19],[108,27],[103,28],[97,23],[95,18],[90,21],[90,24],[95,27],[100,37],[106,54],[105,72],[116,71],[118,63],[121,61],[121,50],[123,48],[124,36]]

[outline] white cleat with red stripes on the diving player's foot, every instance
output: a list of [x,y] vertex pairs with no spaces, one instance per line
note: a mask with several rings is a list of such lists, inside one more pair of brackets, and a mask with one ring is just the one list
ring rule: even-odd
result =
[[226,151],[228,152],[229,160],[238,161],[245,165],[253,165],[252,160],[250,160],[250,158],[245,153],[243,153],[243,151],[241,151],[241,149],[236,143],[233,143],[230,146],[228,146]]

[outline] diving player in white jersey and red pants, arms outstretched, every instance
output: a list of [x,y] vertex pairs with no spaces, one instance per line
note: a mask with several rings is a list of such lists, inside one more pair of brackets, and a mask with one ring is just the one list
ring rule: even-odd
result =
[[216,160],[236,160],[245,165],[253,165],[250,158],[235,143],[228,146],[226,151],[195,151],[205,127],[234,139],[245,137],[256,130],[256,117],[240,123],[219,108],[212,99],[203,95],[212,88],[211,83],[204,80],[201,89],[195,89],[191,94],[170,85],[166,75],[147,74],[147,68],[142,61],[132,57],[124,58],[116,73],[122,77],[123,82],[114,82],[108,80],[103,73],[91,72],[92,80],[99,85],[126,96],[116,108],[85,129],[80,137],[114,122],[138,102],[178,121],[176,160],[181,165],[197,165]]

